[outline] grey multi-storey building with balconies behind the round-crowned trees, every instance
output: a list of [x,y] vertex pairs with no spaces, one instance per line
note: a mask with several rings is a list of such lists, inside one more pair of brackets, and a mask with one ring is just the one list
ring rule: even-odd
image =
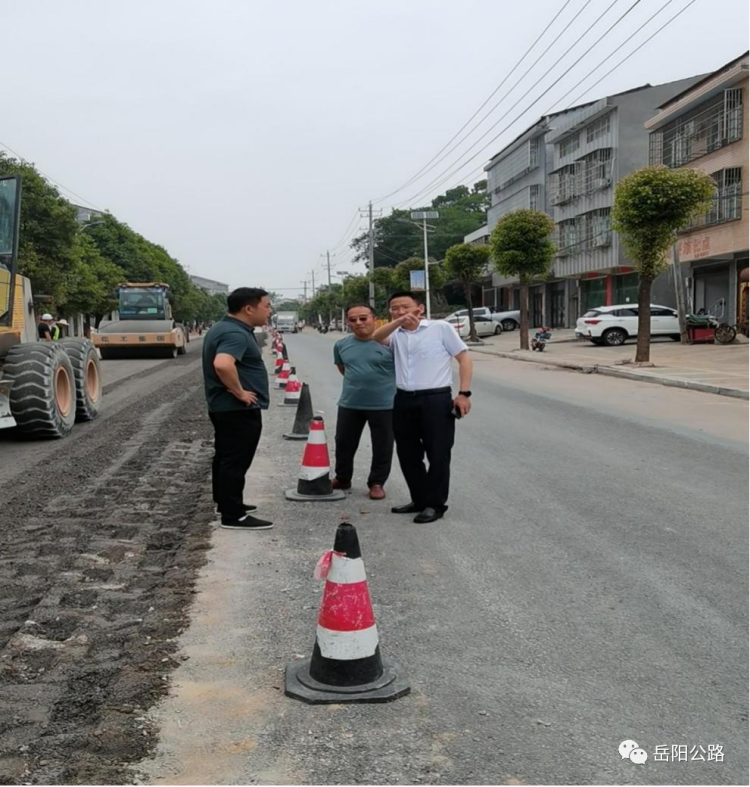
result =
[[[611,228],[615,184],[648,164],[643,124],[653,108],[698,79],[646,85],[548,115],[490,162],[490,230],[521,207],[555,220],[558,254],[550,278],[531,288],[532,326],[572,326],[593,306],[637,299],[637,275]],[[518,307],[517,282],[496,274],[493,284],[502,291],[500,307]],[[654,293],[674,302],[666,277]]]

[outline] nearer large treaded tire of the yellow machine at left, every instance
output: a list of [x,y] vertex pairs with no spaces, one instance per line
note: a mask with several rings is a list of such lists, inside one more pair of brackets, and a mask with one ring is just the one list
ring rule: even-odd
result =
[[76,421],[73,365],[51,342],[18,344],[5,357],[3,380],[12,382],[10,411],[23,434],[55,439]]

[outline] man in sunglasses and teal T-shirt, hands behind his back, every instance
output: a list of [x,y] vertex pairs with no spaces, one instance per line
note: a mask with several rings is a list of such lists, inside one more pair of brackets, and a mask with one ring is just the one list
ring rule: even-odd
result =
[[351,489],[354,456],[365,424],[370,425],[372,465],[367,486],[373,500],[385,499],[385,482],[393,461],[393,353],[373,339],[375,315],[369,306],[350,306],[346,322],[352,333],[339,339],[333,361],[344,375],[336,422],[334,489]]

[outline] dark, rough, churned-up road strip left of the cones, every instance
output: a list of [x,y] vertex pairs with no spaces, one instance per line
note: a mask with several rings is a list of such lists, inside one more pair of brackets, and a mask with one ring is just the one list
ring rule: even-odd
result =
[[179,663],[212,505],[200,342],[103,363],[104,409],[0,438],[0,784],[131,784]]

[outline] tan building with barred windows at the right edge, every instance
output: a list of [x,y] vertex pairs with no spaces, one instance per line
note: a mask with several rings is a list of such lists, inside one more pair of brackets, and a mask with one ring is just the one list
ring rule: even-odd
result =
[[651,163],[709,173],[717,195],[711,210],[681,234],[689,307],[724,322],[750,320],[750,216],[743,179],[750,179],[750,52],[673,96],[646,123]]

